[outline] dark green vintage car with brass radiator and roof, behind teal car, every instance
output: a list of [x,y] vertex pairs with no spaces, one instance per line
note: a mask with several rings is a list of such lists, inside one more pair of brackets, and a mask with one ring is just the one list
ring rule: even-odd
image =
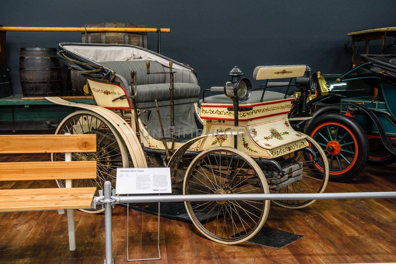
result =
[[[360,53],[368,54],[370,49],[383,55],[391,51],[392,47],[396,47],[396,27],[376,28],[363,30],[359,32],[348,33],[352,38],[352,47],[345,43],[345,48],[350,51],[352,68],[363,64],[362,60],[356,60]],[[386,40],[393,38],[392,44],[387,45]],[[378,44],[381,41],[381,45]],[[360,49],[360,43],[364,43],[364,49]],[[373,43],[370,47],[370,43]],[[308,124],[320,117],[324,113],[340,113],[340,103],[342,99],[348,97],[359,96],[377,96],[379,94],[378,87],[373,87],[356,79],[356,74],[350,74],[350,81],[337,83],[337,78],[341,74],[318,74],[318,88],[314,91],[297,91],[293,93],[296,98],[289,113],[289,118],[293,117],[312,117],[312,119],[291,122],[295,130],[304,132]],[[327,104],[324,106],[323,104]],[[396,157],[391,155],[378,139],[369,139],[372,146],[369,150],[368,164],[386,165],[396,161]],[[330,172],[332,173],[332,172]]]

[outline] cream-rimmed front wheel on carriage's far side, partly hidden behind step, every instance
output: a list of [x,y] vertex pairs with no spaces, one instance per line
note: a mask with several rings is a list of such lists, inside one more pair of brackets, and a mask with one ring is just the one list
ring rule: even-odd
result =
[[[293,163],[302,164],[302,178],[294,181],[289,185],[279,189],[271,190],[272,193],[321,193],[324,192],[329,181],[329,164],[327,163],[326,154],[316,141],[308,137],[309,147],[315,152],[317,161],[315,162],[312,155],[298,150],[283,155],[283,160]],[[272,202],[278,206],[298,209],[309,206],[316,200],[273,200]]]

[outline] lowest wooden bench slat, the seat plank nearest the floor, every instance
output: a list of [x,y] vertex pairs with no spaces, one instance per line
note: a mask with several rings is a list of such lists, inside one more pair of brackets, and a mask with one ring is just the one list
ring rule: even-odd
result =
[[0,190],[0,212],[91,207],[95,187]]

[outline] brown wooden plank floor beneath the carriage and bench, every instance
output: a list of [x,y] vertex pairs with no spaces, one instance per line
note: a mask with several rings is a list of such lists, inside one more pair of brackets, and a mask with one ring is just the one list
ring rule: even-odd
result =
[[[49,160],[48,155],[0,155],[0,162]],[[0,189],[56,187],[54,181],[0,182]],[[371,167],[326,192],[394,191],[395,166]],[[130,215],[130,258],[156,257],[156,217]],[[56,211],[0,213],[0,263],[103,263],[104,216],[75,212],[76,245],[69,251],[67,217]],[[126,209],[113,209],[113,256],[126,261]],[[300,210],[271,206],[267,226],[304,235],[282,249],[223,245],[193,224],[162,218],[155,263],[353,263],[396,260],[396,199],[322,200]],[[154,261],[152,261],[154,263]],[[148,263],[148,262],[145,262]]]

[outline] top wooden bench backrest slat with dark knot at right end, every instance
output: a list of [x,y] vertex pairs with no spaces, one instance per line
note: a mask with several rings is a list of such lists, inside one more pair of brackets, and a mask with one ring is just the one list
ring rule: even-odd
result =
[[96,152],[96,134],[0,135],[0,154]]

